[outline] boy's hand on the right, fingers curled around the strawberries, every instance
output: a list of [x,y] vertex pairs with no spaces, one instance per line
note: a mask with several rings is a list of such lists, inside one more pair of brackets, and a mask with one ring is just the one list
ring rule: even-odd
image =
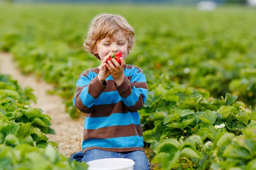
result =
[[[111,63],[111,61],[114,63],[114,65]],[[108,64],[106,66],[110,71],[113,79],[115,80],[116,85],[119,86],[125,80],[125,60],[122,57],[120,57],[121,65],[119,65],[119,63],[115,59],[111,59],[111,61],[108,61]]]

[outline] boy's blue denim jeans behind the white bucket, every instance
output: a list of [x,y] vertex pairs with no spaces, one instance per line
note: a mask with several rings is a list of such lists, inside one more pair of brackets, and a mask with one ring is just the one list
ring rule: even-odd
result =
[[127,158],[135,162],[134,170],[149,170],[148,159],[143,151],[131,151],[131,152],[109,152],[105,150],[92,149],[87,150],[84,154],[83,151],[79,151],[70,156],[70,160],[76,161],[93,161],[96,159],[105,158]]

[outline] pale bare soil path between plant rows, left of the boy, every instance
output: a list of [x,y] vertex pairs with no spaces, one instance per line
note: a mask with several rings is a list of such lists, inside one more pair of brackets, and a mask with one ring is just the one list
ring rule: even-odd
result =
[[38,82],[34,76],[24,76],[17,69],[17,65],[12,60],[10,54],[0,54],[0,73],[10,74],[18,83],[25,87],[30,86],[34,89],[37,104],[32,103],[32,108],[41,108],[45,114],[52,117],[51,128],[55,130],[55,135],[47,135],[50,141],[59,144],[59,151],[65,156],[81,150],[81,140],[83,139],[84,115],[78,119],[71,119],[65,112],[65,105],[57,95],[47,94],[53,86],[44,82]]

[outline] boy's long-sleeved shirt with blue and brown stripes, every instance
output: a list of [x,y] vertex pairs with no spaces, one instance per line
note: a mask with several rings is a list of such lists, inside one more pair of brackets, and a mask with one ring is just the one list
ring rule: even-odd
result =
[[143,151],[143,132],[138,113],[148,95],[143,71],[134,65],[125,65],[125,80],[117,86],[111,75],[101,83],[97,76],[99,70],[91,68],[79,76],[73,98],[74,106],[87,113],[83,152],[90,149]]

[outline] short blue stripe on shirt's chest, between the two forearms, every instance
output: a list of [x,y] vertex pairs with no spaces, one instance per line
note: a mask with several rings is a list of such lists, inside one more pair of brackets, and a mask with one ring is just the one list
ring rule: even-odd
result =
[[95,103],[95,105],[113,104],[118,103],[120,100],[122,99],[117,91],[108,91],[99,95],[99,100]]

